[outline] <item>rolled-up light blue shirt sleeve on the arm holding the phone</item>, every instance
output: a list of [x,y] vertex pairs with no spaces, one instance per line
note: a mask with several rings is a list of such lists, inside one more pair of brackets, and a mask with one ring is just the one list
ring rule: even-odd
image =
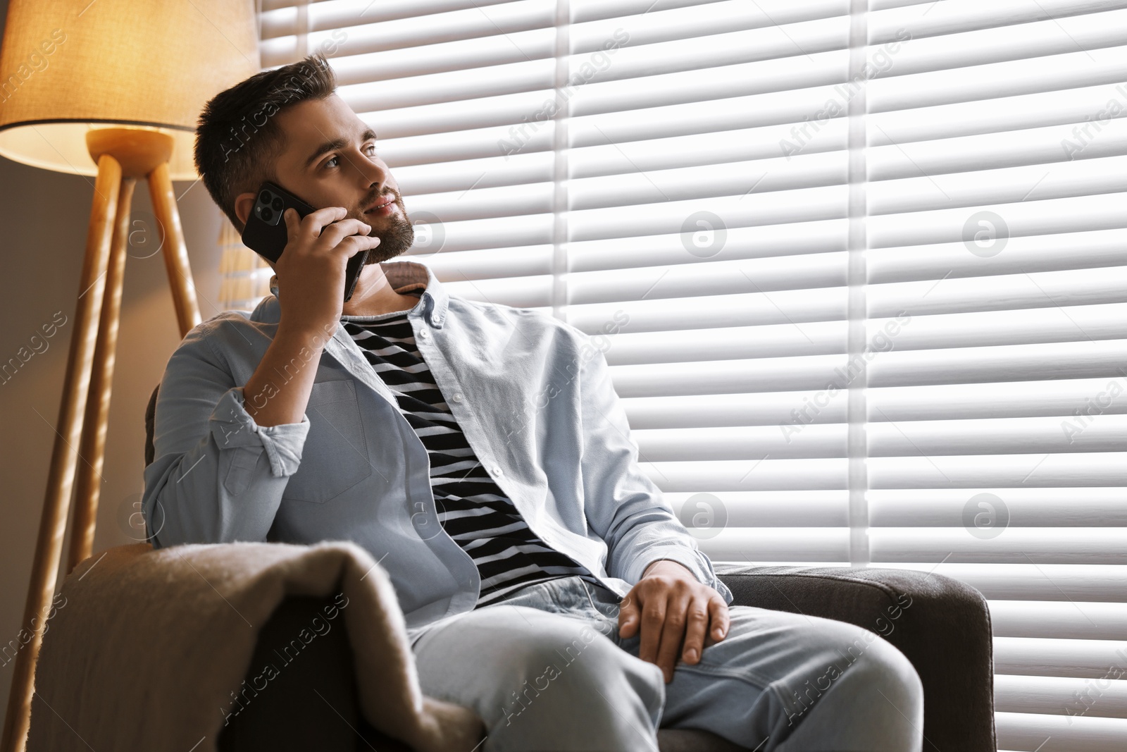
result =
[[211,319],[185,336],[157,395],[153,461],[141,506],[154,548],[265,541],[301,465],[309,417],[259,426],[242,387],[208,342]]

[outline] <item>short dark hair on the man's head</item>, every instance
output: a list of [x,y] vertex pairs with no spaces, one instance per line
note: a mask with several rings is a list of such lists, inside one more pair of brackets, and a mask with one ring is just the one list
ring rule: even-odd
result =
[[236,196],[258,191],[263,180],[277,182],[274,162],[285,147],[285,134],[274,115],[300,101],[323,99],[336,88],[336,76],[318,52],[256,73],[204,106],[196,126],[196,171],[240,232]]

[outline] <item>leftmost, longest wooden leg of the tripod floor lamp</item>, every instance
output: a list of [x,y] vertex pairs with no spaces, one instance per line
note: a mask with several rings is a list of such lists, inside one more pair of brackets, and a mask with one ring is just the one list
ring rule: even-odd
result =
[[[39,536],[35,542],[32,581],[24,607],[24,630],[30,638],[16,654],[5,719],[2,752],[21,752],[27,736],[34,692],[35,663],[43,644],[43,627],[55,593],[55,580],[66,532],[66,515],[74,484],[77,451],[82,433],[83,413],[94,365],[94,350],[98,336],[98,321],[106,284],[109,248],[114,219],[117,214],[122,168],[116,159],[103,154],[98,159],[98,178],[94,186],[90,207],[90,227],[86,239],[86,257],[79,282],[78,303],[74,308],[74,329],[70,353],[66,356],[66,377],[63,382],[62,405],[59,408],[57,431],[51,454],[51,474],[39,520]],[[25,632],[21,631],[21,637]],[[20,639],[23,643],[23,638]]]

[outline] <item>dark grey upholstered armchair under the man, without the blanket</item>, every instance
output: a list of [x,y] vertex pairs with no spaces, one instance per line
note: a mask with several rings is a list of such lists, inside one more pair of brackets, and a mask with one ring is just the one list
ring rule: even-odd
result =
[[[157,390],[145,410],[145,465],[153,459]],[[994,752],[990,612],[974,587],[911,569],[733,567],[717,572],[733,604],[837,619],[870,629],[915,666],[924,687],[924,752]],[[248,680],[329,599],[290,596],[263,626]],[[316,645],[316,647],[314,647]],[[313,656],[313,657],[309,657]],[[410,752],[372,728],[356,704],[344,630],[310,644],[220,735],[221,752]],[[314,691],[316,690],[316,691]],[[658,732],[660,752],[738,752],[704,731]]]

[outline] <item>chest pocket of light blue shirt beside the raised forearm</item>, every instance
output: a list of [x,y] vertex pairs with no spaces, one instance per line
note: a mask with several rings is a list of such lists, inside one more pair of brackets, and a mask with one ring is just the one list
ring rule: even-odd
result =
[[305,407],[309,433],[282,501],[323,504],[372,475],[367,437],[352,381],[314,383]]

